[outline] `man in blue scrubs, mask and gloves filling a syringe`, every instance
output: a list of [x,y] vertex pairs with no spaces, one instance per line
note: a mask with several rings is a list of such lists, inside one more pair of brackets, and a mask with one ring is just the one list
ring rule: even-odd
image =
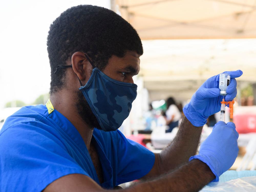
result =
[[[192,96],[177,136],[161,153],[118,130],[136,98],[132,77],[143,54],[135,29],[118,14],[71,7],[51,24],[47,49],[50,99],[6,120],[0,132],[0,191],[111,191],[135,179],[142,182],[120,190],[198,191],[234,163],[233,123],[218,122],[195,155],[202,126],[220,110],[218,75]],[[232,100],[234,78],[242,71],[228,73],[226,100]]]

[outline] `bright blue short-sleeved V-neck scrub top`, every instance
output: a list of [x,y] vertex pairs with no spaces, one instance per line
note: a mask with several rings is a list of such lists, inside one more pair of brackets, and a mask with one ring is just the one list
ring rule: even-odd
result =
[[104,182],[84,141],[61,113],[46,105],[26,106],[9,116],[0,131],[0,191],[41,191],[68,174],[83,174],[103,188],[139,179],[155,155],[119,131],[94,129]]

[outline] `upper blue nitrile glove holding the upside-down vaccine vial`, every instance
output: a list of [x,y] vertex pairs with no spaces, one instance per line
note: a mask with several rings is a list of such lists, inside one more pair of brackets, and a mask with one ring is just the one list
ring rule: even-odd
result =
[[[237,95],[237,81],[234,78],[240,77],[243,72],[225,71],[230,74],[230,84],[227,88],[226,101],[231,101]],[[191,101],[183,108],[186,118],[196,127],[206,124],[207,118],[220,111],[223,96],[220,95],[219,74],[207,79],[194,93]]]

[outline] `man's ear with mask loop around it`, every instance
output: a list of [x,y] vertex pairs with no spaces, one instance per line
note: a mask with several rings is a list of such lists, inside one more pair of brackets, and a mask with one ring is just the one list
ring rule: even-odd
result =
[[74,72],[77,74],[78,78],[81,81],[86,79],[86,75],[90,68],[92,67],[88,59],[85,57],[83,52],[75,52],[71,57],[72,68]]

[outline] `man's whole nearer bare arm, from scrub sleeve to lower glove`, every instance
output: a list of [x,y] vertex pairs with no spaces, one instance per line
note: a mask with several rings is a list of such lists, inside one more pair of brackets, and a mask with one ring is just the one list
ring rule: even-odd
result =
[[153,180],[137,183],[129,188],[109,190],[103,189],[92,178],[83,174],[69,174],[49,184],[44,192],[70,192],[70,191],[95,191],[95,192],[157,192],[157,191],[198,191],[215,178],[210,168],[198,159],[182,167],[158,176]]

